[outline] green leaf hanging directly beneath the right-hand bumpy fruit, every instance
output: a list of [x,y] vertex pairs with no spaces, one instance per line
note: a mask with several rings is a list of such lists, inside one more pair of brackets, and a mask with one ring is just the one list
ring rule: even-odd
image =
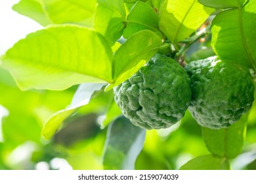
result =
[[209,129],[202,127],[203,140],[209,152],[224,158],[235,158],[242,152],[245,140],[247,115],[228,128]]

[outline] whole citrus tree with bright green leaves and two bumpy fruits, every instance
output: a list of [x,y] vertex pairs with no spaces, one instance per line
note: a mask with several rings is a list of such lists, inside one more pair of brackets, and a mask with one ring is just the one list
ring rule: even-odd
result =
[[1,169],[255,169],[255,0],[12,8],[45,28],[1,56]]

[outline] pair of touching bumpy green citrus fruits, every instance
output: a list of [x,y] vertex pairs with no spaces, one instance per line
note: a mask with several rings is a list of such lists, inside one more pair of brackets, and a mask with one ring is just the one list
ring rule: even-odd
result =
[[253,103],[249,69],[235,61],[211,57],[184,68],[156,54],[128,80],[114,88],[123,115],[146,129],[179,122],[187,108],[203,127],[219,129],[237,122]]

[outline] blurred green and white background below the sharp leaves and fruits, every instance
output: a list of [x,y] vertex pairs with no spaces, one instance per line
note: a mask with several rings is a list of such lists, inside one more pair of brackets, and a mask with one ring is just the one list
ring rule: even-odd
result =
[[[50,141],[41,137],[43,124],[65,108],[76,86],[62,92],[21,92],[9,73],[0,70],[0,169],[103,169],[107,127],[102,127],[113,93],[99,91],[88,105],[65,120]],[[118,114],[118,109],[116,109]],[[256,105],[249,113],[244,151],[232,169],[255,169]],[[127,137],[123,137],[127,138]],[[190,114],[169,129],[146,131],[135,169],[179,169],[186,161],[209,154],[201,127]]]

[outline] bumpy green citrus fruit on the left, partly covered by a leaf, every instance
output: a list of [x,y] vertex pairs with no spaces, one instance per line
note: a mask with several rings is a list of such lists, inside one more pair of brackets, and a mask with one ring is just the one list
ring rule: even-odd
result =
[[145,129],[167,128],[181,120],[191,99],[190,78],[177,61],[156,54],[114,88],[123,115]]

